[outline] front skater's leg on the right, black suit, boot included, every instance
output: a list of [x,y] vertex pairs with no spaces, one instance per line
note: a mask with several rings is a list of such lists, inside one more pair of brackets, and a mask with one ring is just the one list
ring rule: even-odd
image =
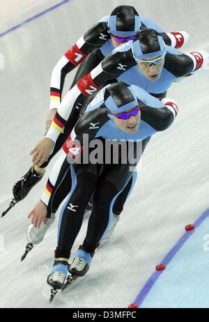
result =
[[83,276],[88,271],[93,254],[111,224],[114,201],[132,176],[127,164],[104,168],[93,194],[93,210],[88,220],[86,238],[70,266],[72,275]]

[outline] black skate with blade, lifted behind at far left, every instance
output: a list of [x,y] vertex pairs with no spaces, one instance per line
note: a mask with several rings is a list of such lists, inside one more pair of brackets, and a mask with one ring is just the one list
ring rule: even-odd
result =
[[10,201],[8,208],[3,211],[1,217],[5,216],[6,213],[8,213],[8,211],[17,204],[17,202],[24,199],[32,187],[36,185],[38,181],[40,181],[42,176],[44,176],[44,174],[37,174],[35,171],[33,171],[33,167],[31,167],[29,171],[22,178],[20,178],[15,185],[13,185],[14,198],[12,201]]

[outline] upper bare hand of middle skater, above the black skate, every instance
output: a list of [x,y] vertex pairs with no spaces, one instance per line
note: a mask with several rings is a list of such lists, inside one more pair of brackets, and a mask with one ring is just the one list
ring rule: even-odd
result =
[[48,160],[53,148],[54,141],[52,139],[49,139],[49,137],[44,137],[41,139],[38,144],[36,144],[35,148],[33,148],[33,150],[30,152],[30,155],[33,155],[33,165],[41,167],[42,164]]

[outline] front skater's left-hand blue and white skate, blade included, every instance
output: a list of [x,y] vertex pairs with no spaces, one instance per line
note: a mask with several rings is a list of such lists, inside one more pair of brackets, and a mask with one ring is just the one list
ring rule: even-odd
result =
[[54,300],[54,296],[58,293],[58,290],[63,289],[65,285],[65,279],[68,275],[68,262],[67,261],[54,261],[54,267],[52,272],[47,277],[47,284],[52,286],[49,303]]

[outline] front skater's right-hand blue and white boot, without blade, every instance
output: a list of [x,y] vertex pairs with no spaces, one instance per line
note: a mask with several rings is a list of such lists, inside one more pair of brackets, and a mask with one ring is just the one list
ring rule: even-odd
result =
[[74,276],[84,276],[91,265],[92,257],[94,252],[87,253],[82,250],[82,246],[79,247],[79,250],[75,254],[75,258],[70,265],[70,274]]

